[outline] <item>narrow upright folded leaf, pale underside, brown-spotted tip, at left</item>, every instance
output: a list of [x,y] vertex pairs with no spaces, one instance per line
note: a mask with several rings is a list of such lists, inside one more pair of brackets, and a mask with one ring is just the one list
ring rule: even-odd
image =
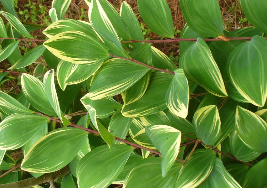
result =
[[59,99],[57,96],[57,91],[55,88],[54,82],[54,70],[49,70],[44,75],[44,91],[48,101],[50,102],[52,108],[62,121],[63,125],[66,127],[70,124],[70,122],[64,117],[63,113],[60,110]]

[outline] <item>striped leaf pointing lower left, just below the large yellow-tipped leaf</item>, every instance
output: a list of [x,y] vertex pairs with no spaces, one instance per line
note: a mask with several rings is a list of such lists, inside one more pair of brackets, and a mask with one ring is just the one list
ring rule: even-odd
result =
[[87,80],[90,76],[95,74],[101,65],[101,61],[92,65],[74,65],[69,76],[66,78],[65,84],[78,84]]

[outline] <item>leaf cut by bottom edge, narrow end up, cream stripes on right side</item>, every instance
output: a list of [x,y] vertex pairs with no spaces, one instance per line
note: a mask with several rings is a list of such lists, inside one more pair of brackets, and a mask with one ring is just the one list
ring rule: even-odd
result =
[[215,164],[210,175],[203,181],[199,188],[242,188],[223,166],[223,162],[215,159]]

